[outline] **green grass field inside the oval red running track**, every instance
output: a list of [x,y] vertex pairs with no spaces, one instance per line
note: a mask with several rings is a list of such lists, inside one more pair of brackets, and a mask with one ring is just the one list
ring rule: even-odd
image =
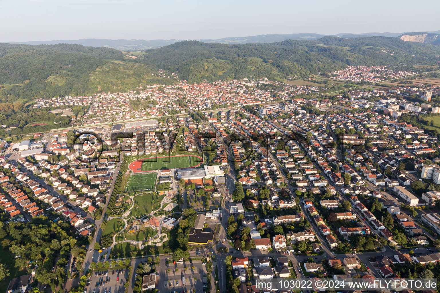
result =
[[196,156],[167,156],[157,158],[147,158],[142,162],[142,171],[153,171],[163,169],[183,169],[196,166],[202,160]]

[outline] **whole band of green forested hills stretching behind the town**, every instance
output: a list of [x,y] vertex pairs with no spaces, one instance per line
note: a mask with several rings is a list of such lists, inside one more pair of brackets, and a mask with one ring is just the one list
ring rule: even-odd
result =
[[319,40],[235,45],[183,41],[146,53],[132,59],[106,47],[0,43],[0,102],[176,83],[155,76],[158,69],[199,83],[250,76],[301,78],[347,65],[433,65],[440,47],[393,37],[326,36]]

